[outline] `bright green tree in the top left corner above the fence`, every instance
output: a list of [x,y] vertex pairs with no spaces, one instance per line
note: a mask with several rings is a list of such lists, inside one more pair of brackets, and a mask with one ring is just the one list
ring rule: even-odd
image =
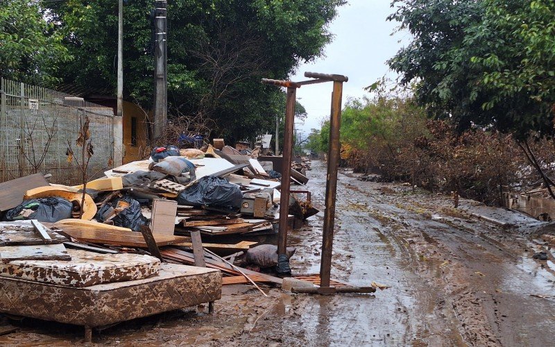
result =
[[71,60],[62,35],[44,20],[41,1],[0,0],[0,76],[52,85]]

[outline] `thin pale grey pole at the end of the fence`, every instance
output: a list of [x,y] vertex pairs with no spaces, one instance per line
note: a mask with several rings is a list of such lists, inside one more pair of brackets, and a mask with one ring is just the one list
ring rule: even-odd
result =
[[114,117],[114,167],[123,164],[123,0],[118,3],[117,112]]

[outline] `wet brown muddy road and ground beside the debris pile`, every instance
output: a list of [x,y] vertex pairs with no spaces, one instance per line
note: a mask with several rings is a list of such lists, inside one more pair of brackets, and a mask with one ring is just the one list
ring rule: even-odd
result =
[[[325,165],[312,163],[307,189],[323,210]],[[474,214],[474,215],[473,215]],[[487,220],[476,216],[488,217]],[[501,227],[498,222],[509,223]],[[317,273],[323,213],[293,231],[297,273]],[[474,201],[339,175],[332,277],[368,294],[310,296],[271,287],[223,288],[216,314],[171,312],[95,332],[102,345],[197,346],[552,346],[555,258],[537,235],[555,230],[517,212]],[[533,255],[546,251],[547,260]],[[74,345],[83,330],[24,320],[0,345]]]

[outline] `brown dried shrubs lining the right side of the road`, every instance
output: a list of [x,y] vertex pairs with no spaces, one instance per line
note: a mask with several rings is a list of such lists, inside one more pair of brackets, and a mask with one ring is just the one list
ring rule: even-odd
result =
[[483,129],[459,135],[447,121],[437,120],[353,150],[350,164],[376,171],[384,181],[454,192],[490,205],[500,205],[502,192],[521,184],[522,168],[527,167],[511,135]]

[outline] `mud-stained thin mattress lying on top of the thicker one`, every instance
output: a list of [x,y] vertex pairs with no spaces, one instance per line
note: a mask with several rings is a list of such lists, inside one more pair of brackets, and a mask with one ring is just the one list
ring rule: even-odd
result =
[[12,260],[0,264],[0,278],[19,278],[67,287],[141,280],[160,272],[160,260],[130,253],[100,254],[68,249],[71,261]]

